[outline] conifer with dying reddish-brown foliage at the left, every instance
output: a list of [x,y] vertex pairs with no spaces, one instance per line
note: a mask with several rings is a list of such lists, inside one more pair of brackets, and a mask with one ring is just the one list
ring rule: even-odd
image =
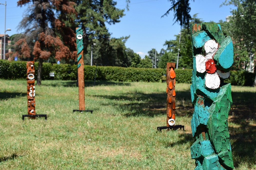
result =
[[[37,85],[40,85],[44,59],[50,56],[55,56],[58,60],[76,57],[76,51],[70,51],[76,47],[75,33],[64,23],[72,22],[72,17],[69,16],[76,13],[75,3],[69,0],[20,0],[17,5],[20,7],[29,5],[29,7],[19,23],[19,29],[25,29],[26,38],[20,39],[16,44],[26,46],[27,40],[35,42],[32,54],[34,60],[38,59]],[[59,18],[55,18],[55,15],[59,15]],[[28,48],[24,50],[29,54]]]

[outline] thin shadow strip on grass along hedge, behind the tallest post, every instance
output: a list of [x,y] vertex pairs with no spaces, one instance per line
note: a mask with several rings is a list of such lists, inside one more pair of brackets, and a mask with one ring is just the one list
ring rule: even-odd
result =
[[[42,86],[64,86],[64,87],[77,87],[76,80],[68,80],[68,81],[47,81],[41,84]],[[94,81],[86,80],[84,81],[85,87],[90,87],[94,85]],[[95,86],[131,86],[131,83],[124,83],[124,82],[112,82],[112,81],[96,81]]]

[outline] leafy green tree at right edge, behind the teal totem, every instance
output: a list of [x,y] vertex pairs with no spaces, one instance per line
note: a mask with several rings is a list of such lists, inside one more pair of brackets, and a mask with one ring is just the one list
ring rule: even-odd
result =
[[[255,56],[256,49],[256,2],[253,0],[226,0],[223,5],[234,5],[232,16],[226,23],[228,33],[234,43],[234,64],[237,69],[246,69],[251,54]],[[225,24],[224,24],[225,25]],[[254,57],[254,65],[256,58]],[[256,68],[254,67],[254,72]],[[256,77],[254,80],[256,86]]]

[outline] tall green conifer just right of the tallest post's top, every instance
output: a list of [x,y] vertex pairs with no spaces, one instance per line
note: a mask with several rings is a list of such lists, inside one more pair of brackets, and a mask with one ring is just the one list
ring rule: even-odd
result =
[[[76,25],[83,30],[83,46],[84,49],[87,49],[84,53],[90,52],[91,50],[88,46],[91,45],[93,41],[98,40],[99,44],[110,47],[99,48],[98,53],[104,55],[102,55],[102,58],[98,56],[96,59],[98,64],[103,66],[116,64],[118,66],[128,67],[129,64],[121,61],[127,57],[125,56],[125,48],[123,48],[123,43],[126,41],[125,37],[121,37],[121,39],[112,38],[110,40],[110,33],[105,25],[105,23],[115,24],[120,22],[119,19],[124,16],[124,10],[116,8],[116,2],[113,0],[77,0],[75,2],[77,3]],[[114,52],[111,50],[111,46]],[[113,56],[109,58],[109,53],[111,52],[113,52]],[[120,58],[114,58],[116,55]],[[86,56],[89,55],[87,54]]]

